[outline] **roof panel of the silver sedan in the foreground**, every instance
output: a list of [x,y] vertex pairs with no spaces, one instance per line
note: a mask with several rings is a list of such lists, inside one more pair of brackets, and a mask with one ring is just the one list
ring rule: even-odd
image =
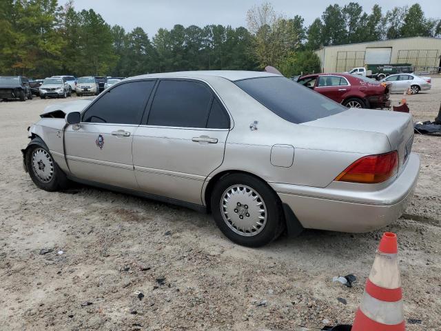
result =
[[279,74],[271,74],[269,72],[260,71],[244,71],[244,70],[200,70],[200,71],[178,71],[164,72],[161,74],[143,74],[141,76],[130,77],[130,79],[164,77],[164,78],[203,78],[203,77],[223,77],[229,81],[240,81],[241,79],[250,79],[257,77],[280,77]]

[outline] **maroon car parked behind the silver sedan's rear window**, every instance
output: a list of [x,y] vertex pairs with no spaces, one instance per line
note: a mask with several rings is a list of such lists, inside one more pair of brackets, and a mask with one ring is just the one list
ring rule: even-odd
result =
[[389,86],[352,74],[307,74],[298,83],[349,108],[390,108]]

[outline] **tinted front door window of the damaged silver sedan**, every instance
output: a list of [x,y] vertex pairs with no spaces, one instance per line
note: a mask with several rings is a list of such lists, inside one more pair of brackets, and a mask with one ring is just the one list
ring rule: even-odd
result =
[[134,81],[112,88],[86,110],[83,122],[139,124],[154,83]]

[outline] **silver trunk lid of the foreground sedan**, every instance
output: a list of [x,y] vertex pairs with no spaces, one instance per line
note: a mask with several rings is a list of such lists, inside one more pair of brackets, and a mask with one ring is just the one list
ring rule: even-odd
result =
[[399,171],[402,170],[403,163],[409,157],[413,143],[412,117],[403,112],[350,108],[345,112],[300,125],[385,134],[389,139],[391,150],[398,151]]

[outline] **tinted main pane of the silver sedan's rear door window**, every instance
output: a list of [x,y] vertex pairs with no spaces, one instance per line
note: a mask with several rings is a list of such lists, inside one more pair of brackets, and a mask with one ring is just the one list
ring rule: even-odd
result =
[[149,126],[205,128],[212,92],[194,81],[159,83],[150,110]]

